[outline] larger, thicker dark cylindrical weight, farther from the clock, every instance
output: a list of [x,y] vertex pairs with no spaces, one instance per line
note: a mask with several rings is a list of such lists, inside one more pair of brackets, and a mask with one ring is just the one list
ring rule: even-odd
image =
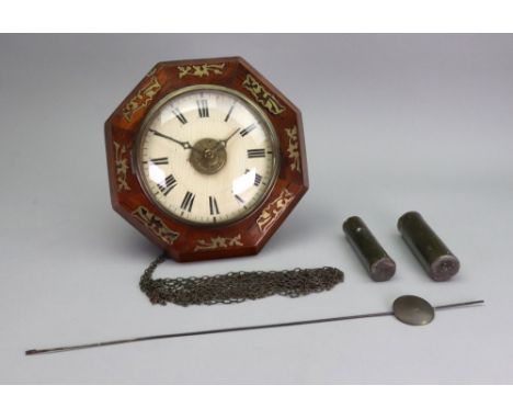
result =
[[433,281],[447,281],[458,273],[458,259],[418,212],[403,214],[397,228]]

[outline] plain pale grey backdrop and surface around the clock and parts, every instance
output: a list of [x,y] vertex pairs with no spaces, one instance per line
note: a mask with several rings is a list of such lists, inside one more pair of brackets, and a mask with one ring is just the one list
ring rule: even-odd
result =
[[[1,383],[513,383],[511,35],[0,35]],[[158,273],[335,265],[298,299],[155,307],[159,253],[110,206],[103,122],[159,60],[241,55],[303,110],[310,191],[256,257]],[[397,218],[460,258],[432,282]],[[341,233],[361,215],[398,263],[373,283]],[[25,358],[30,348],[485,298],[421,328],[391,317]]]

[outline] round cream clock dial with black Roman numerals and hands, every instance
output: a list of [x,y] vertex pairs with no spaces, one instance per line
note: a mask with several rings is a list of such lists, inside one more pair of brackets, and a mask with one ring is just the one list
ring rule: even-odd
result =
[[243,218],[276,178],[273,126],[240,93],[216,86],[164,98],[144,124],[137,149],[146,193],[181,220],[215,225]]

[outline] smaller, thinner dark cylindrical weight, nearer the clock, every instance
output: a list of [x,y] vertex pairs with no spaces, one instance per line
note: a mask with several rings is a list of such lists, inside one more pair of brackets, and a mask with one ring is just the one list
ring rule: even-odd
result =
[[342,226],[347,240],[374,281],[388,281],[396,273],[396,262],[379,245],[360,217],[347,218]]

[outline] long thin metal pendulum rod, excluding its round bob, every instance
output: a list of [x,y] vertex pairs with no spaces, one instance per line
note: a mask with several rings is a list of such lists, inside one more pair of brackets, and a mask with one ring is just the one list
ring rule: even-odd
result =
[[[485,303],[485,302],[482,299],[478,299],[478,301],[466,302],[466,303],[456,303],[456,304],[436,306],[435,308],[443,309],[443,308],[463,307],[463,306],[469,306],[469,305],[481,304],[481,303]],[[133,342],[144,342],[148,340],[158,340],[158,339],[172,339],[172,338],[183,338],[183,337],[189,337],[189,336],[226,333],[226,332],[231,332],[231,331],[274,329],[278,327],[316,325],[320,322],[353,320],[353,319],[360,319],[360,318],[383,317],[383,316],[392,316],[392,315],[394,315],[394,312],[381,312],[381,313],[369,313],[369,314],[361,314],[361,315],[353,315],[353,316],[320,318],[320,319],[314,319],[314,320],[276,322],[276,324],[258,325],[258,326],[240,326],[240,327],[231,327],[231,328],[224,328],[224,329],[197,330],[197,331],[186,331],[186,332],[169,333],[169,335],[155,335],[155,336],[146,336],[146,337],[140,337],[140,338],[133,338],[133,339],[109,340],[104,342],[76,344],[76,346],[69,346],[69,347],[57,347],[57,348],[48,348],[48,349],[30,349],[25,351],[25,355],[76,351],[79,349],[99,348],[99,347],[107,347],[107,346],[113,346],[113,344],[123,344],[123,343],[133,343]]]

